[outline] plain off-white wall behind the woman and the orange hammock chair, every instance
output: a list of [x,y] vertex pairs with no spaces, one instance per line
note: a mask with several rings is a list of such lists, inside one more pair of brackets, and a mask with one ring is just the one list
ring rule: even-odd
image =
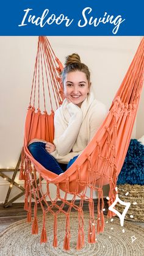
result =
[[[140,37],[48,37],[62,63],[78,53],[92,73],[95,97],[109,108],[140,43]],[[23,146],[24,120],[31,92],[38,37],[0,37],[0,168],[15,166]],[[144,94],[144,93],[143,93]],[[144,95],[132,137],[144,134]],[[8,174],[8,173],[7,173]],[[9,175],[12,175],[9,173]],[[18,181],[18,177],[16,178]],[[20,183],[20,181],[18,181]],[[9,183],[0,177],[0,202]],[[13,188],[16,195],[17,189]],[[107,194],[107,188],[106,193]],[[19,199],[17,202],[23,200]]]

